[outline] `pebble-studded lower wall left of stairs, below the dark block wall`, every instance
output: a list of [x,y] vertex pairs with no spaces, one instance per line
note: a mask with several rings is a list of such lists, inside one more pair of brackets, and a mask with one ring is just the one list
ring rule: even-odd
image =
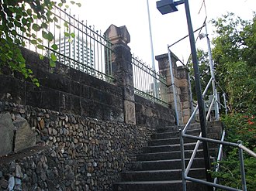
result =
[[112,190],[152,128],[0,101],[0,112],[25,118],[36,147],[0,158],[0,190]]

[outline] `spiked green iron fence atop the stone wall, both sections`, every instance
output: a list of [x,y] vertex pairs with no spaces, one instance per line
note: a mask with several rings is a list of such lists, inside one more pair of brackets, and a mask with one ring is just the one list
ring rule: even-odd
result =
[[[43,32],[36,32],[40,47],[34,43],[35,37],[17,31],[26,48],[52,58],[81,72],[88,73],[101,80],[113,83],[112,43],[94,26],[71,15],[71,11],[54,6],[53,22],[44,27],[44,32],[52,34],[53,39],[43,38]],[[35,19],[37,26],[42,22]],[[132,57],[133,82],[135,94],[168,107],[168,88],[165,77],[152,70],[137,57]]]

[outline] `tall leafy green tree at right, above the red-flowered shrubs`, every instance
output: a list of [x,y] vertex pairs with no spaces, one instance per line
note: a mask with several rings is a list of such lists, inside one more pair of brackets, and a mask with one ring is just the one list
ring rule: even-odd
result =
[[216,28],[213,60],[216,78],[233,111],[256,110],[256,16],[244,21],[233,13],[212,21]]

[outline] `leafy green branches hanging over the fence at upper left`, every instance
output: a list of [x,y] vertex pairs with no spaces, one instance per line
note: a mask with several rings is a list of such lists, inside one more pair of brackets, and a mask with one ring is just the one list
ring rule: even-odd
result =
[[[81,6],[74,1],[70,3]],[[51,0],[0,0],[0,73],[7,67],[22,73],[25,78],[30,78],[39,86],[38,80],[33,77],[33,71],[26,67],[26,60],[19,49],[20,46],[26,46],[20,33],[27,36],[30,43],[36,45],[38,49],[44,49],[41,44],[43,39],[49,42],[54,39],[48,26],[50,22],[57,22],[57,18],[51,12],[55,5],[65,5],[66,8],[68,6],[66,0],[59,3]],[[36,23],[36,20],[40,22]],[[36,36],[37,32],[41,32],[41,38]],[[53,45],[52,48],[56,50],[57,45]],[[54,66],[56,56],[51,54],[50,57],[50,65]]]

